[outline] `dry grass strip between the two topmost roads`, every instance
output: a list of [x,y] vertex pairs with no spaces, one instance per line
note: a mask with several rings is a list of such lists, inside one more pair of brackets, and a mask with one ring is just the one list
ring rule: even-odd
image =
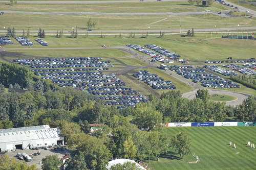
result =
[[[0,1],[1,2],[1,1]],[[161,9],[161,11],[159,11]],[[0,4],[0,10],[32,11],[32,12],[105,12],[105,13],[141,13],[141,12],[190,12],[220,11],[226,6],[214,3],[210,7],[190,5],[188,2],[147,2],[147,3],[102,3],[102,4],[22,4],[10,6]]]

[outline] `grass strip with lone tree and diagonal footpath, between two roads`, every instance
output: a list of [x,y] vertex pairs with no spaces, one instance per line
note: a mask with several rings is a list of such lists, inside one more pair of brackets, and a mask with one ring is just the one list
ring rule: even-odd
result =
[[[256,18],[224,18],[213,14],[191,16],[99,16],[99,15],[41,15],[4,14],[0,28],[14,27],[16,30],[86,30],[89,18],[97,22],[94,30],[139,30],[139,29],[203,29],[256,26]],[[165,19],[166,18],[166,19]],[[165,19],[165,20],[163,20]],[[150,32],[148,29],[148,32]]]

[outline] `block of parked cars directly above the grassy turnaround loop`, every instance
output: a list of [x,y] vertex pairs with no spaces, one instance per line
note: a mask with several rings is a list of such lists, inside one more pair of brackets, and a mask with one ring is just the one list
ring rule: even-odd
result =
[[210,72],[206,72],[203,68],[194,68],[194,66],[169,66],[170,70],[176,71],[177,74],[191,79],[194,83],[201,83],[204,87],[225,87],[239,88],[240,85],[231,81],[226,81],[220,76],[214,76]]

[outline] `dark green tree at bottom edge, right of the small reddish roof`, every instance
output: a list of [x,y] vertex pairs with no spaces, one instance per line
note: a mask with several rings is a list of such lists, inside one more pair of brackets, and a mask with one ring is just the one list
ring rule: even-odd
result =
[[88,170],[86,160],[84,159],[83,152],[77,152],[70,156],[67,160],[67,167],[66,170]]

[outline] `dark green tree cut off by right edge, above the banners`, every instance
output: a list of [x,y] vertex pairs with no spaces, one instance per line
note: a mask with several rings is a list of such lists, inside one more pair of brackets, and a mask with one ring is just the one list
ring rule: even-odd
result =
[[241,121],[256,120],[256,96],[249,96],[237,109],[238,119]]

